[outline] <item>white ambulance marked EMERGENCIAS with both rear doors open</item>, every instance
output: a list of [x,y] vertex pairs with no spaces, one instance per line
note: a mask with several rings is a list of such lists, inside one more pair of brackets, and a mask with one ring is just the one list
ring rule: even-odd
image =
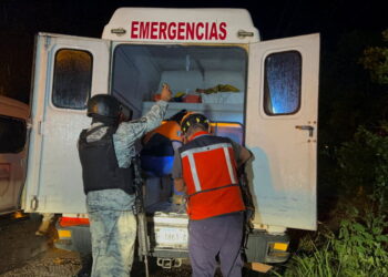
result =
[[[185,96],[166,117],[202,112],[216,134],[253,153],[246,260],[283,263],[287,228],[316,229],[318,71],[318,33],[261,41],[244,9],[121,8],[102,39],[39,33],[22,207],[61,216],[58,247],[90,247],[76,150],[91,122],[86,101],[112,94],[139,117],[169,83]],[[198,93],[206,90],[213,93]],[[149,255],[178,266],[187,257],[186,215],[160,212],[147,222]]]

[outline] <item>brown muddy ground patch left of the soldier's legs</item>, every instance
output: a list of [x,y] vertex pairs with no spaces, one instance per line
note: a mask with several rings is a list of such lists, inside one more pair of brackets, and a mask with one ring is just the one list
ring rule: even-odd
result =
[[28,216],[0,217],[0,276],[73,276],[76,253],[53,247],[53,236],[35,236],[40,222]]

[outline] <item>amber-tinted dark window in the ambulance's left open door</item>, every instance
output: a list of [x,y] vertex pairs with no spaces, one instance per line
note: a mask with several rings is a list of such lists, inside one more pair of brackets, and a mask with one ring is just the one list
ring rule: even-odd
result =
[[52,103],[83,110],[90,98],[93,59],[90,52],[61,49],[55,54]]

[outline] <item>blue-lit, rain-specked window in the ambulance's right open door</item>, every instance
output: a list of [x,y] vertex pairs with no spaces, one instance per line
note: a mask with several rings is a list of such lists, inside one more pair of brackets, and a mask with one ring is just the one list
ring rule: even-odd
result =
[[302,55],[297,51],[269,54],[265,60],[264,111],[294,114],[300,107]]

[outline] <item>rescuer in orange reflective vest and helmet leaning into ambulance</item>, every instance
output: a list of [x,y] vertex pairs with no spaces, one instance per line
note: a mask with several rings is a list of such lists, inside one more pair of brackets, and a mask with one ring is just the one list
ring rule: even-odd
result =
[[223,276],[242,276],[245,205],[237,168],[251,152],[210,133],[210,121],[187,113],[181,122],[184,145],[175,152],[176,191],[187,195],[188,255],[193,276],[214,276],[218,256]]

